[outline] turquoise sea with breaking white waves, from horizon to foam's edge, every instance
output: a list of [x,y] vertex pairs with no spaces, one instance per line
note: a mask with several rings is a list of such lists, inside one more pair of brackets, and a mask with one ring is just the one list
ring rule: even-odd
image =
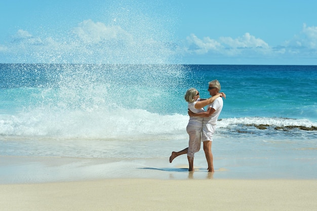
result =
[[[221,82],[227,95],[219,123],[226,131],[234,124],[241,124],[236,130],[242,130],[247,124],[310,127],[317,122],[317,66],[2,64],[0,68],[2,136],[72,138],[82,136],[77,129],[85,129],[84,138],[107,139],[105,133],[93,131],[108,134],[113,125],[118,132],[133,131],[131,138],[163,131],[179,134],[187,121],[185,91],[194,87],[208,98],[212,79]],[[157,128],[160,122],[166,126]]]

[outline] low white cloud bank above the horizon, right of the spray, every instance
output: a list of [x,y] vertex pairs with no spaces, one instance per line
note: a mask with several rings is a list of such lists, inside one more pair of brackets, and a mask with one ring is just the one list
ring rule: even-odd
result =
[[292,39],[279,46],[269,46],[263,39],[250,33],[235,38],[222,36],[217,39],[199,38],[191,34],[186,40],[182,55],[187,58],[204,58],[207,62],[213,58],[245,59],[252,62],[257,58],[262,61],[289,60],[291,63],[302,60],[316,64],[317,58],[317,27],[308,27],[306,24],[303,24],[302,30]]

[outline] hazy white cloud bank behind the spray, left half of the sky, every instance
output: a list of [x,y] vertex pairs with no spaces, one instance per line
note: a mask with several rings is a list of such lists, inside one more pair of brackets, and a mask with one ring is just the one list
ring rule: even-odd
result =
[[48,35],[44,31],[34,36],[20,29],[10,43],[0,47],[0,58],[9,58],[9,63],[165,64],[176,54],[175,46],[146,27],[131,32],[84,20],[71,32]]

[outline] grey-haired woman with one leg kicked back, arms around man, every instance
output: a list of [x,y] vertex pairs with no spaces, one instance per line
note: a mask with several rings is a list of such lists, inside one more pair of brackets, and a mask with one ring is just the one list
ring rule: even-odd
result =
[[[193,113],[201,113],[205,112],[204,107],[206,105],[213,103],[218,97],[222,96],[225,97],[224,93],[218,93],[209,99],[200,99],[199,92],[194,88],[190,88],[186,91],[184,98],[186,102],[188,102],[188,109],[190,111]],[[172,155],[170,156],[170,162],[172,162],[175,157],[181,154],[187,154],[189,163],[188,171],[193,171],[194,153],[201,149],[202,129],[203,117],[191,116],[186,127],[186,131],[189,135],[188,147],[179,152],[173,151]]]

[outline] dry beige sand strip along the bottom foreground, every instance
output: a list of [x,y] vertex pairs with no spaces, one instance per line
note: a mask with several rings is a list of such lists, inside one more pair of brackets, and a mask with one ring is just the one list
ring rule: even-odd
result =
[[106,179],[0,185],[2,210],[315,210],[317,180]]

